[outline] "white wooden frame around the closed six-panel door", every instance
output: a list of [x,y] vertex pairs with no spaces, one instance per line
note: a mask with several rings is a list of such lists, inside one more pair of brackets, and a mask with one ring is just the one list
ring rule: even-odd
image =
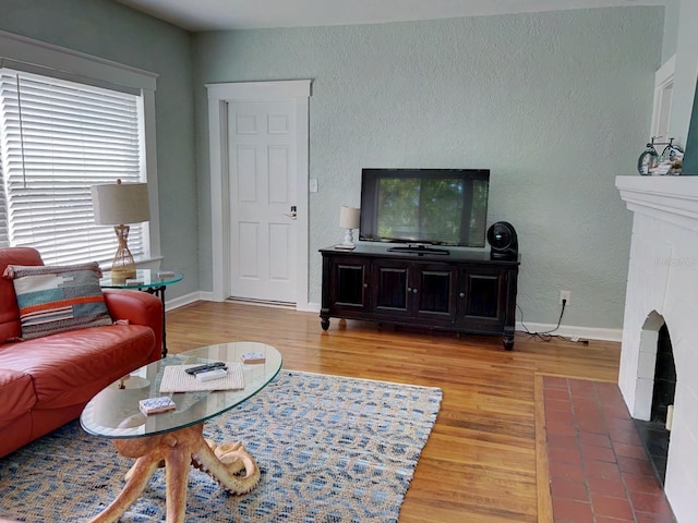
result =
[[228,104],[231,101],[293,101],[297,137],[297,245],[296,308],[309,311],[309,106],[311,80],[280,82],[232,82],[206,84],[208,92],[208,137],[210,168],[210,236],[213,297],[222,302],[232,295],[230,281],[230,170],[228,166]]

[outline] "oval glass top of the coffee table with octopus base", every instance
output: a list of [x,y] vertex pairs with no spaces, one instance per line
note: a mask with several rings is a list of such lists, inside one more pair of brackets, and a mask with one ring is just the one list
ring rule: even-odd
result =
[[[261,352],[265,362],[242,365],[244,389],[159,392],[163,373],[168,365],[241,363],[240,355],[245,352]],[[105,438],[137,438],[178,430],[217,416],[256,394],[279,373],[281,362],[281,354],[275,348],[251,341],[220,343],[172,354],[103,389],[87,403],[80,423],[88,434]],[[149,416],[141,412],[140,400],[161,396],[171,397],[177,409]]]

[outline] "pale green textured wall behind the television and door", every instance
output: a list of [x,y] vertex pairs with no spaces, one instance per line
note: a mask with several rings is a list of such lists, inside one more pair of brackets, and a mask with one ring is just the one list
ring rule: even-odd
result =
[[[663,9],[638,7],[198,34],[198,185],[205,83],[313,78],[311,302],[317,250],[340,239],[333,226],[359,203],[361,168],[490,168],[489,221],[519,233],[525,321],[554,324],[564,288],[566,325],[619,329],[630,216],[614,178],[635,172],[647,141],[662,32]],[[209,208],[202,193],[203,290]]]

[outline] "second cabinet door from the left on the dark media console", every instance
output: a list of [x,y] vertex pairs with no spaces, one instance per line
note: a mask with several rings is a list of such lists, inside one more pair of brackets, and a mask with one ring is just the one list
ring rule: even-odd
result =
[[409,316],[412,289],[410,264],[374,262],[371,278],[373,311],[386,316]]

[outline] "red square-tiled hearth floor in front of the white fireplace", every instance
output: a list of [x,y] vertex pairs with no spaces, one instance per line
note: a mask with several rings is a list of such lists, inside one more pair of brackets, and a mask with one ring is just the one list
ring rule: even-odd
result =
[[554,522],[674,522],[618,386],[542,378]]

